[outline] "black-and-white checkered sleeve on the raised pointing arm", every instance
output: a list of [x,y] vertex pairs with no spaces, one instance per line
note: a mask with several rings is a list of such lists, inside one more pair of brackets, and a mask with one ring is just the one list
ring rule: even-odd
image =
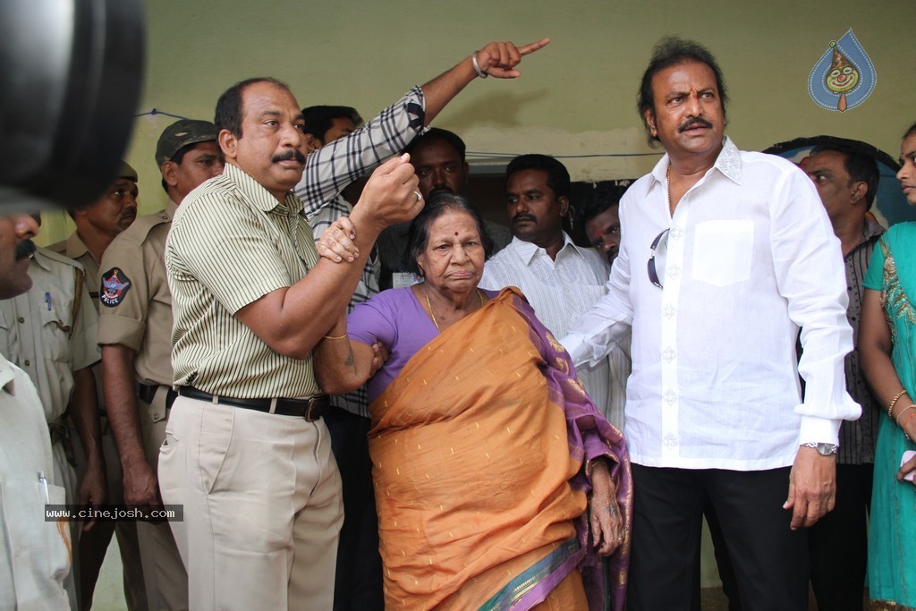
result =
[[305,204],[305,213],[316,213],[351,182],[423,133],[425,108],[423,90],[418,85],[353,134],[311,153],[295,189]]

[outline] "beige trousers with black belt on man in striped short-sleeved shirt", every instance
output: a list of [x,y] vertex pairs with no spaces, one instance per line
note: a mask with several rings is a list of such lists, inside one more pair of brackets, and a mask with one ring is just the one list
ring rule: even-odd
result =
[[159,453],[191,609],[333,606],[344,521],[323,420],[179,397]]

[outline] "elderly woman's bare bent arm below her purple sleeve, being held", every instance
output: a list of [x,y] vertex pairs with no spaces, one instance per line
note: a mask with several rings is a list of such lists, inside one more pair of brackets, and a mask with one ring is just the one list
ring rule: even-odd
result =
[[346,333],[346,317],[341,316],[315,346],[315,377],[324,392],[343,395],[363,386],[386,359],[387,351],[381,344],[351,340]]

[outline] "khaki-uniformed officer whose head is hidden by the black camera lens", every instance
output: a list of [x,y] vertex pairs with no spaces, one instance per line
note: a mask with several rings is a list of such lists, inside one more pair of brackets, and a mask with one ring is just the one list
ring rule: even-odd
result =
[[[43,248],[34,253],[28,275],[32,288],[0,301],[0,353],[26,371],[38,390],[50,432],[54,481],[68,503],[104,503],[105,474],[91,366],[100,354],[95,344],[96,315],[86,291],[82,266]],[[71,416],[82,447],[88,448],[86,476],[77,489],[73,453],[66,424]],[[91,528],[90,523],[86,523]],[[71,522],[71,541],[78,549],[83,524]],[[78,555],[74,554],[74,559]],[[73,569],[64,582],[71,606],[78,608]]]

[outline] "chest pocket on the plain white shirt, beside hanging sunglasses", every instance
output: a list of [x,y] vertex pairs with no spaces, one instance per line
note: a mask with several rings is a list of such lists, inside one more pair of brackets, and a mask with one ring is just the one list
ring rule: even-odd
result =
[[693,239],[692,278],[715,287],[743,282],[750,278],[753,252],[752,221],[698,223]]

